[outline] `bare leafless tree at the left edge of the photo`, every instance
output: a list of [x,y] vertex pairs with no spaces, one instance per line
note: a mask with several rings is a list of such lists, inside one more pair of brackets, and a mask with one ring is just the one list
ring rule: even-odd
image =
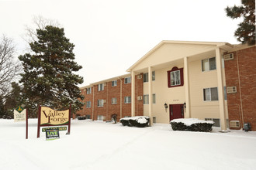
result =
[[21,72],[19,60],[15,59],[16,48],[12,39],[2,36],[0,39],[0,97],[5,102],[6,96],[12,90],[12,81]]

